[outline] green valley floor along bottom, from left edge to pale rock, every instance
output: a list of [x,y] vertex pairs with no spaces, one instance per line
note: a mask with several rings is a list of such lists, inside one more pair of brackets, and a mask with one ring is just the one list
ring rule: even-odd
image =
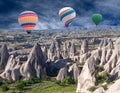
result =
[[24,87],[23,90],[18,91],[14,88],[15,84],[10,84],[9,90],[2,92],[0,87],[0,93],[76,93],[76,84],[61,86],[53,81],[42,81],[39,83],[31,84]]

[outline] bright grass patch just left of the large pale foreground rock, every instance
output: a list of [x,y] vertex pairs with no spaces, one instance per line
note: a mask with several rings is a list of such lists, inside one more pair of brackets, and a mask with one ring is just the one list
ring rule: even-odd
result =
[[75,93],[76,85],[60,86],[55,82],[43,81],[27,88],[30,89],[26,93]]

